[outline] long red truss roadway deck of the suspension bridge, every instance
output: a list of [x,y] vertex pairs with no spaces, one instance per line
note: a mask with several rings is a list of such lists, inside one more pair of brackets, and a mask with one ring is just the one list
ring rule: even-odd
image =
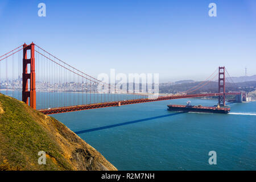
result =
[[[226,95],[238,95],[238,94],[241,94],[241,92],[225,93],[225,96]],[[67,112],[79,111],[79,110],[97,109],[97,108],[102,108],[102,107],[113,107],[113,106],[121,106],[121,105],[128,105],[128,104],[138,104],[138,103],[143,103],[143,102],[174,100],[174,99],[179,99],[179,98],[213,97],[213,96],[222,96],[222,95],[223,95],[223,93],[206,93],[206,94],[160,96],[155,99],[140,98],[140,99],[135,99],[135,100],[103,102],[103,103],[98,103],[98,104],[55,107],[55,108],[51,108],[51,109],[40,109],[38,111],[40,111],[43,114],[58,114],[58,113],[67,113]]]

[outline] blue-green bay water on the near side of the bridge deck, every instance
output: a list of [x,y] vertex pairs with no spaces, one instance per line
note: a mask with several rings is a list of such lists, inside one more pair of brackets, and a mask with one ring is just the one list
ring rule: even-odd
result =
[[[187,100],[51,116],[119,170],[256,170],[256,102],[228,104],[229,114],[167,110],[168,104],[185,105]],[[191,104],[217,101],[191,99]],[[209,151],[216,151],[216,165],[208,163]]]

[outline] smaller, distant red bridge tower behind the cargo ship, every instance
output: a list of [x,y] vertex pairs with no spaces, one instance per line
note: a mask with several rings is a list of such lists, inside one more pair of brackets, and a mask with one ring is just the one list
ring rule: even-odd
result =
[[225,106],[225,67],[218,67],[218,93],[223,93],[218,96],[218,104]]

